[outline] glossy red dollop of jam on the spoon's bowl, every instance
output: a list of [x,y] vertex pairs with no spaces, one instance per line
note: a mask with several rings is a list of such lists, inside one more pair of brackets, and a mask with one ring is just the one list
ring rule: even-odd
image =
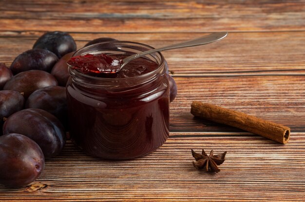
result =
[[122,60],[106,54],[86,54],[71,57],[68,65],[81,73],[116,73],[120,71]]

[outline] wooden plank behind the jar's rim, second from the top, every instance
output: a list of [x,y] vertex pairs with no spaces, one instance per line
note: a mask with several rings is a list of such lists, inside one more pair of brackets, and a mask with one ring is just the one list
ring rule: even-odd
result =
[[[0,32],[0,61],[8,65],[43,32]],[[207,33],[71,33],[77,47],[98,37],[170,45]],[[305,32],[229,33],[206,46],[163,52],[175,75],[305,75]]]

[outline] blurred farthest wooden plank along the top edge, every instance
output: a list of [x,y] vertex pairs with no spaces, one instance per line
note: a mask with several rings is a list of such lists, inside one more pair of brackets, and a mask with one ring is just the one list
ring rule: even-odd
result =
[[304,0],[2,0],[0,30],[74,32],[290,31]]

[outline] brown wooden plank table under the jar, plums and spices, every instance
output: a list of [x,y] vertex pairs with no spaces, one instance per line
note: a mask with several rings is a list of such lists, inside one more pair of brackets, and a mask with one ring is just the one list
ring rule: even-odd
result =
[[[164,52],[178,95],[157,151],[103,161],[68,141],[33,184],[0,186],[0,202],[305,201],[304,0],[1,0],[0,10],[7,65],[45,31],[71,33],[78,48],[97,37],[160,47],[229,31],[217,43]],[[196,119],[193,100],[284,124],[290,141]],[[221,172],[196,170],[191,148],[228,151]]]

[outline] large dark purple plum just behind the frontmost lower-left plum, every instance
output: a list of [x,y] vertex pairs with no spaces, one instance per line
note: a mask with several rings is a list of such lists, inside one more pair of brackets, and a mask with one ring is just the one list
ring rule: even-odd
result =
[[45,159],[57,156],[66,143],[65,130],[60,121],[40,109],[21,110],[9,116],[3,125],[3,134],[8,133],[19,133],[34,140]]

